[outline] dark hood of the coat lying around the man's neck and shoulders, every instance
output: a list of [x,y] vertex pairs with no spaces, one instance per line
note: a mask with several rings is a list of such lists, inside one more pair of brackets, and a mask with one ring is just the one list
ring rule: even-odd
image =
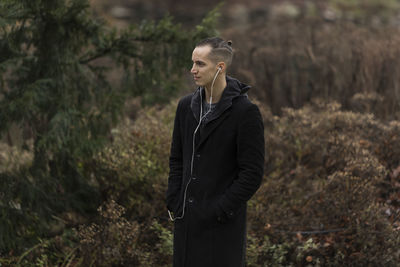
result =
[[[204,119],[204,123],[207,124],[208,122],[217,119],[232,105],[232,101],[236,97],[247,97],[247,91],[250,88],[251,86],[244,84],[235,78],[226,76],[226,87],[222,92],[221,99],[219,100],[213,112],[210,113],[210,116]],[[205,89],[204,87],[198,87],[193,93],[192,101],[190,103],[190,108],[197,121],[200,120],[200,106],[203,98],[205,98]]]

